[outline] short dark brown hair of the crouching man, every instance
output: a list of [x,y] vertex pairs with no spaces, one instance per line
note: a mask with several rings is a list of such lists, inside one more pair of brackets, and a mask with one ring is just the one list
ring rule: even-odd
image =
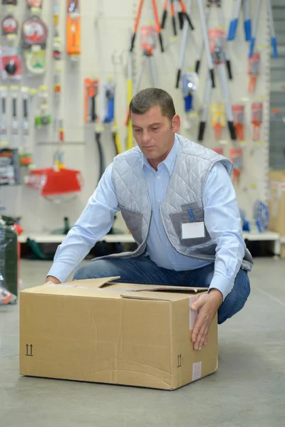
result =
[[150,108],[158,105],[162,115],[172,121],[175,106],[172,97],[163,89],[147,88],[138,92],[130,101],[130,113],[145,114]]

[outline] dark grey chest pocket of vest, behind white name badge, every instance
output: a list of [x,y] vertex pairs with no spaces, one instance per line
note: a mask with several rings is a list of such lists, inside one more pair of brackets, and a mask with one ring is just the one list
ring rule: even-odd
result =
[[175,232],[180,240],[180,244],[182,246],[187,246],[188,248],[190,248],[192,246],[202,245],[203,243],[209,242],[211,240],[211,237],[209,236],[209,233],[205,226],[204,226],[203,237],[182,238],[182,224],[204,223],[204,209],[202,208],[192,209],[192,218],[190,218],[188,209],[191,209],[191,206],[189,206],[187,211],[185,210],[185,206],[183,206],[183,208],[184,208],[183,212],[178,212],[177,214],[170,214],[170,219],[173,227],[175,228]]

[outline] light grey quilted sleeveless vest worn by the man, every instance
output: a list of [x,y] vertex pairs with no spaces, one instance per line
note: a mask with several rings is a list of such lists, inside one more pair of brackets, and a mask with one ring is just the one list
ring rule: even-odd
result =
[[[204,221],[202,193],[212,166],[221,162],[232,174],[232,163],[210,149],[176,135],[180,143],[165,200],[160,206],[160,216],[165,233],[172,246],[182,255],[214,262],[216,244],[207,228],[202,238],[182,239],[181,224],[190,222],[188,210],[192,209],[195,221]],[[145,253],[152,216],[152,206],[142,169],[142,153],[138,147],[115,157],[112,181],[118,205],[138,248],[134,252],[108,255],[103,258],[137,257]],[[98,259],[98,258],[97,258]],[[246,249],[242,268],[251,270],[252,255]]]

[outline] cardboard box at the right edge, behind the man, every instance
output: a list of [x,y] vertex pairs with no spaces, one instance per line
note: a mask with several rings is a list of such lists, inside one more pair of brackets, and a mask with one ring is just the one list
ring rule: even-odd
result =
[[269,229],[285,236],[285,170],[269,172]]

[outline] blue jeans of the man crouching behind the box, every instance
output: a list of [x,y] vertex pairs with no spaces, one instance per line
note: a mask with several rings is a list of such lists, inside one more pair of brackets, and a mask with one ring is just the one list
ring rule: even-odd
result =
[[[208,288],[214,275],[214,263],[196,270],[175,271],[158,267],[147,256],[94,260],[76,270],[73,280],[120,276],[118,283],[142,283],[152,285],[197,286]],[[249,278],[245,270],[239,270],[232,292],[227,295],[218,311],[218,323],[235,315],[244,307],[250,293]]]

